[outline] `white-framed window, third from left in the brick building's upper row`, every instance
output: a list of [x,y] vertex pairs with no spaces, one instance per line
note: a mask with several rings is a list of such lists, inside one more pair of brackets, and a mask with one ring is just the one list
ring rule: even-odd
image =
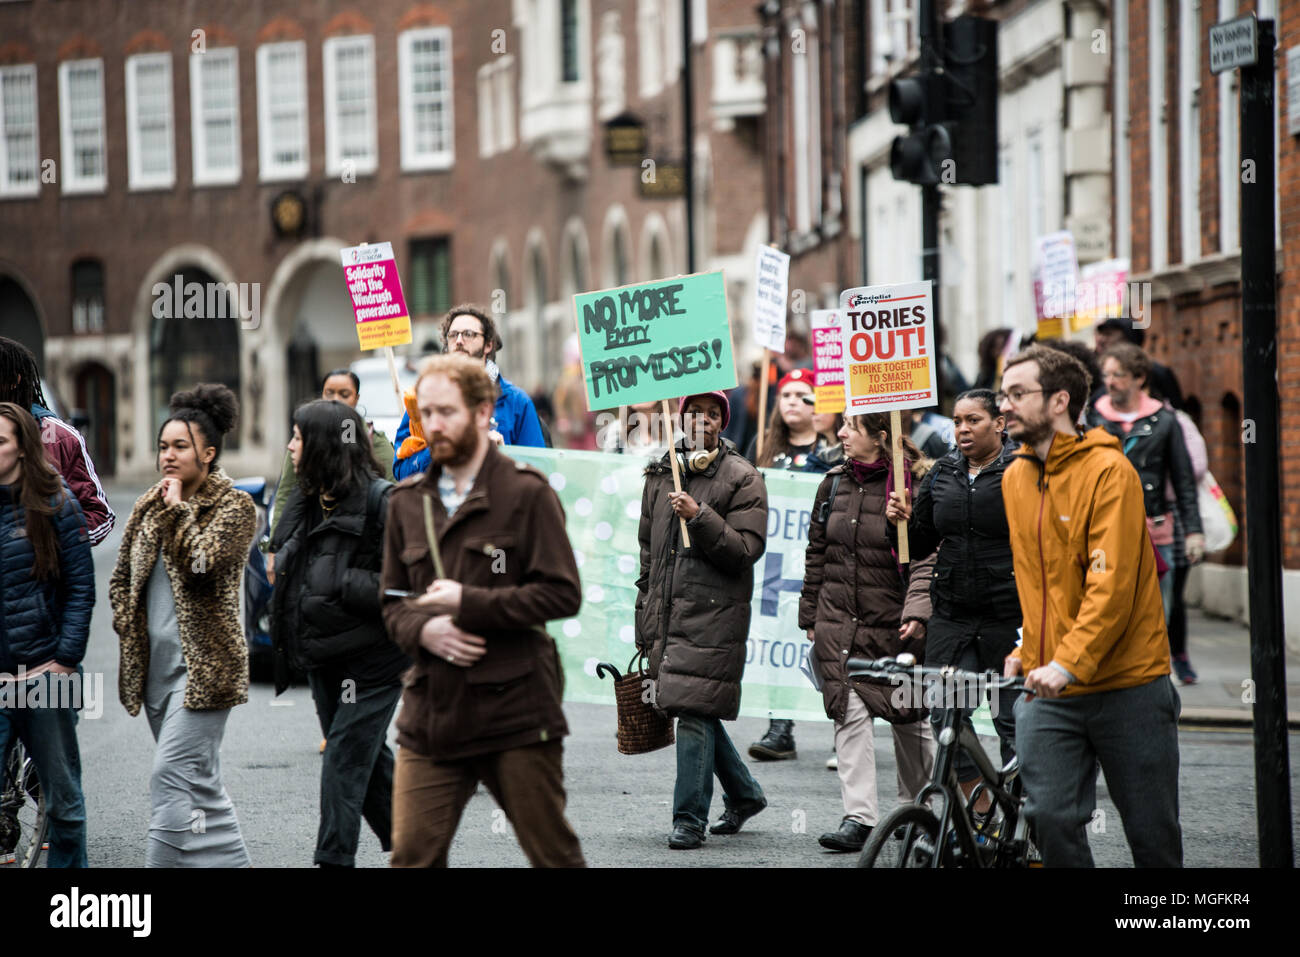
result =
[[126,59],[126,169],[133,190],[176,183],[170,53]]

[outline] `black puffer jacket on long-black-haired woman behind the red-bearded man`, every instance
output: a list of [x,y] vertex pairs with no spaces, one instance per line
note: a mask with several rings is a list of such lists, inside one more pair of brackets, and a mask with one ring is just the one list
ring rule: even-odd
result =
[[[321,516],[300,489],[290,493],[270,542],[276,553],[270,622],[277,694],[289,687],[290,664],[311,670],[344,663],[359,681],[387,684],[411,663],[389,640],[380,611],[384,524],[391,490],[391,482],[374,478],[369,488],[352,489],[329,516]],[[318,520],[311,524],[312,518]]]

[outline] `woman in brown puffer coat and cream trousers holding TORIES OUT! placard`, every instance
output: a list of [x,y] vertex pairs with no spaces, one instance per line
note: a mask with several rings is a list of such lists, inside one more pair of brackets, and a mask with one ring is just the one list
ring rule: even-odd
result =
[[[812,503],[800,628],[812,642],[826,714],[835,722],[844,798],[838,830],[823,833],[819,843],[828,850],[861,850],[878,820],[874,719],[893,727],[902,802],[930,781],[935,737],[920,707],[900,706],[889,688],[850,683],[845,662],[901,651],[920,658],[933,558],[914,562],[909,579],[885,532],[885,502],[893,490],[889,415],[849,416],[840,439],[846,460],[826,475]],[[924,467],[910,439],[902,446],[910,489]]]

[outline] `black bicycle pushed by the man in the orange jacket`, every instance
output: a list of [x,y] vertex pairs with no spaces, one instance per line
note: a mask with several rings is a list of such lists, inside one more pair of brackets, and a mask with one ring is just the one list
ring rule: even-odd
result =
[[[868,661],[850,658],[849,677],[870,677],[898,684],[898,676],[931,677],[949,685],[961,680],[975,688],[1024,689],[1023,677],[1004,677],[994,672],[976,674],[952,667],[927,668],[915,657]],[[890,680],[893,679],[893,680]],[[915,687],[913,688],[915,690]],[[946,690],[946,687],[945,687]],[[923,719],[924,720],[924,719]],[[961,748],[979,768],[980,781],[970,798],[962,797],[957,781],[957,749]],[[970,727],[958,722],[958,709],[949,707],[939,731],[939,750],[931,783],[910,805],[897,807],[871,832],[859,867],[1036,867],[1041,866],[1034,841],[1034,828],[1024,817],[1024,785],[1019,758],[1001,771],[993,768],[984,748]],[[984,815],[975,813],[982,794],[993,804]],[[939,805],[936,814],[930,807]]]

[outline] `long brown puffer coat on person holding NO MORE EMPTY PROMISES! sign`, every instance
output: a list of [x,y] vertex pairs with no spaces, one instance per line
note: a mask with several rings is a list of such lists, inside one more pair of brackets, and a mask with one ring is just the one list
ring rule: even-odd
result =
[[[668,452],[671,455],[672,452]],[[681,523],[668,502],[668,455],[646,469],[636,638],[668,714],[732,720],[740,714],[754,563],[767,549],[767,486],[731,443],[703,472],[682,472],[699,514]]]

